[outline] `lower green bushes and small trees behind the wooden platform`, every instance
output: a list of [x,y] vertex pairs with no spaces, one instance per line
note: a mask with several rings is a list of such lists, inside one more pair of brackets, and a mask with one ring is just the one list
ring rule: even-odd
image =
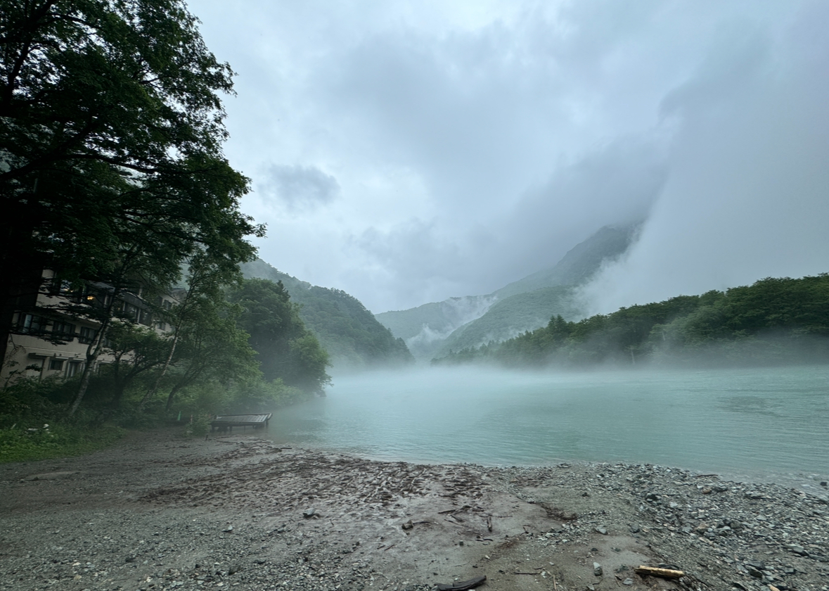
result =
[[226,300],[187,300],[164,317],[174,332],[113,325],[104,349],[114,363],[90,377],[71,417],[80,377],[10,380],[0,390],[0,462],[88,452],[111,444],[121,427],[171,419],[204,434],[211,414],[272,410],[319,395],[330,381],[327,353],[281,284],[243,281]]

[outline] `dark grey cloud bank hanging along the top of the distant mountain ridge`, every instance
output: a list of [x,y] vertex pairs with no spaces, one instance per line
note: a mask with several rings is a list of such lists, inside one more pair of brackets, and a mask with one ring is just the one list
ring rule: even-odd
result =
[[[395,298],[484,295],[555,265],[601,226],[647,217],[666,164],[661,145],[620,140],[562,165],[486,222],[414,219],[385,232],[371,228],[353,246],[371,266],[389,270],[378,285]],[[419,277],[429,281],[413,281]]]

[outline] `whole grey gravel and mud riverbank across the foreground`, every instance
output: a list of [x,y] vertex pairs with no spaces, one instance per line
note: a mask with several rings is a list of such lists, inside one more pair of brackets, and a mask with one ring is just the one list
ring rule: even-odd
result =
[[[0,466],[0,589],[419,591],[486,575],[492,591],[816,591],[829,589],[823,491],[132,433],[89,456]],[[686,577],[642,578],[640,564]]]

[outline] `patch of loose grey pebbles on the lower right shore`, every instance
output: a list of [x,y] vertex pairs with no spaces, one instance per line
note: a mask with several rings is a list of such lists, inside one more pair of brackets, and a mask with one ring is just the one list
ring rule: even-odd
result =
[[[588,464],[582,472],[571,467],[566,473],[539,466],[511,470],[506,477],[519,486],[575,491],[584,490],[587,481],[597,507],[605,509],[614,497],[627,500],[640,519],[629,522],[630,533],[693,580],[707,581],[697,586],[686,580],[687,589],[716,589],[720,581],[734,581],[734,589],[749,591],[817,591],[829,580],[829,501],[822,491],[698,478],[652,465]],[[587,512],[571,521],[571,543],[606,529],[604,513]]]

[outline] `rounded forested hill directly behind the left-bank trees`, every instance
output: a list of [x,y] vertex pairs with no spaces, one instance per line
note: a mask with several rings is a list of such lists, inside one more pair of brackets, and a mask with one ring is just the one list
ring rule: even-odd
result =
[[241,265],[246,278],[282,281],[299,315],[327,350],[335,369],[410,364],[414,358],[403,339],[395,338],[366,307],[345,291],[312,286],[278,271],[261,259]]

